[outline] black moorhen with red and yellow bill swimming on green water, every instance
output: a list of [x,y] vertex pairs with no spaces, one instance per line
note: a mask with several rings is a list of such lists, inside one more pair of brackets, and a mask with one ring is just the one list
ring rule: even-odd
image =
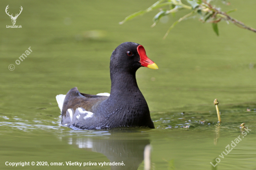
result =
[[155,128],[135,78],[141,66],[158,69],[140,44],[125,42],[119,45],[110,58],[110,94],[90,95],[74,87],[66,95],[57,95],[61,124],[87,130],[120,126]]

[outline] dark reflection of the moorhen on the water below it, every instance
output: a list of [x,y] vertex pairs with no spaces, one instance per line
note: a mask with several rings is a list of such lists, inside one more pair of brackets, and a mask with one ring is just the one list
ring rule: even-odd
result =
[[[108,138],[78,137],[68,138],[67,143],[78,148],[99,152],[108,157],[110,163],[124,163],[125,165],[111,166],[111,170],[137,170],[143,161],[143,152],[147,144],[150,144],[145,135],[128,136],[125,133],[111,134]],[[148,135],[147,135],[148,136]],[[138,138],[138,139],[136,139]],[[141,139],[143,138],[143,139]],[[146,138],[146,139],[145,139]]]

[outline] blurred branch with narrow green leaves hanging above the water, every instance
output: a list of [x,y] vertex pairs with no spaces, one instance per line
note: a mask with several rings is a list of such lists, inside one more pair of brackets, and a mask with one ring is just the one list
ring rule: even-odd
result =
[[[155,2],[155,4],[153,4],[151,7],[149,7],[146,10],[141,10],[137,13],[133,13],[131,15],[129,15],[128,17],[126,17],[123,21],[121,21],[119,24],[123,24],[124,22],[131,20],[139,15],[143,15],[144,13],[148,13],[153,11],[154,9],[159,9],[160,8],[160,12],[157,13],[155,15],[155,17],[153,18],[153,22],[154,24],[152,25],[155,26],[159,20],[163,17],[168,15],[169,13],[176,13],[182,9],[187,9],[187,10],[192,10],[192,12],[186,14],[185,16],[183,16],[182,18],[180,18],[179,20],[175,21],[168,29],[167,33],[164,36],[164,39],[167,37],[168,33],[170,32],[170,30],[179,22],[181,22],[182,20],[188,18],[189,16],[191,16],[192,14],[199,14],[200,17],[200,21],[202,21],[202,23],[204,22],[209,22],[212,23],[213,26],[213,30],[214,32],[219,35],[219,31],[218,31],[218,26],[217,24],[221,21],[221,20],[225,20],[227,22],[232,22],[234,25],[240,27],[240,28],[244,28],[250,31],[253,31],[256,33],[256,29],[250,27],[250,26],[246,26],[243,22],[236,20],[234,18],[232,18],[231,16],[228,15],[228,13],[231,12],[235,12],[236,9],[232,9],[227,11],[226,13],[221,11],[220,8],[217,8],[215,6],[213,6],[212,4],[210,4],[210,2],[212,0],[183,0],[186,1],[189,5],[185,5],[182,3],[182,0],[158,0],[157,2]],[[225,2],[227,5],[229,5],[230,3],[227,2],[227,0],[222,0],[223,2]],[[162,7],[167,7],[167,8],[162,8]]]

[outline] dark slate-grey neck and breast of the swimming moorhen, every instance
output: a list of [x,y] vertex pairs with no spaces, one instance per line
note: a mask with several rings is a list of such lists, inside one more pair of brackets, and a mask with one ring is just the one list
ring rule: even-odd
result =
[[109,126],[148,126],[154,128],[148,104],[136,82],[136,71],[129,72],[113,67],[110,70],[110,97],[101,102],[99,108],[100,111],[105,112],[106,119],[113,119]]

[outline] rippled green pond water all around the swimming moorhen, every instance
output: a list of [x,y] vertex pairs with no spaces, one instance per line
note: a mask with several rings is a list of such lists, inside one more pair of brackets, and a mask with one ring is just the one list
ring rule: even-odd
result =
[[[123,161],[125,166],[112,170],[143,170],[147,144],[152,146],[152,170],[256,169],[256,34],[222,22],[216,37],[209,24],[191,18],[162,40],[170,23],[185,11],[154,28],[156,12],[118,24],[154,2],[0,1],[1,170],[111,169],[67,166],[68,161]],[[16,21],[22,28],[6,28],[12,25],[4,11],[7,5],[10,13],[23,7]],[[256,27],[255,6],[255,0],[232,0],[224,8],[238,8],[232,16]],[[55,96],[74,86],[89,94],[110,92],[109,58],[126,41],[143,45],[160,68],[137,72],[156,129],[74,131],[60,126]],[[15,64],[29,47],[32,52]],[[215,98],[222,124],[217,123]],[[239,129],[243,122],[251,130],[246,136]],[[219,157],[239,135],[242,141]],[[216,157],[221,162],[214,168],[210,162],[215,164]],[[64,165],[6,165],[33,161]]]

